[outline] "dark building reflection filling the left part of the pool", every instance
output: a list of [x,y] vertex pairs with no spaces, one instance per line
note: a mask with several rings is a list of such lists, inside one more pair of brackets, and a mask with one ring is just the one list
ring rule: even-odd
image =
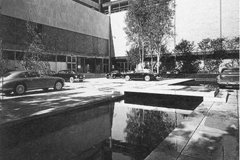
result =
[[110,137],[113,103],[0,126],[1,160],[95,159]]

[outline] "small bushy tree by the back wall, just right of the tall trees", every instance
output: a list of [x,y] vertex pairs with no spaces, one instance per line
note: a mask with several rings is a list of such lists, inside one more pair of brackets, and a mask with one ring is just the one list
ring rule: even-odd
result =
[[192,55],[194,50],[194,42],[182,40],[175,47],[175,52],[184,56],[180,61],[180,70],[184,73],[196,73],[199,70],[201,63],[197,58]]

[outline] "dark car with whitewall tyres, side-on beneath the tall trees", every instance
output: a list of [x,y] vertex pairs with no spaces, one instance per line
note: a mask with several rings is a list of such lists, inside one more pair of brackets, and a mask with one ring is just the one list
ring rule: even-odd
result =
[[151,72],[133,72],[133,73],[126,73],[125,74],[125,80],[145,80],[145,81],[151,81],[151,80],[157,80],[159,77],[159,74],[151,73]]

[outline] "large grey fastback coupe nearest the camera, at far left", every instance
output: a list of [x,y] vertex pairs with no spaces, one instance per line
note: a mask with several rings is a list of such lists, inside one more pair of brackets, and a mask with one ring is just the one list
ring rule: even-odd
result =
[[10,71],[0,77],[0,91],[5,95],[14,92],[15,95],[24,94],[27,90],[48,88],[61,90],[64,86],[64,79],[59,77],[41,76],[35,71]]

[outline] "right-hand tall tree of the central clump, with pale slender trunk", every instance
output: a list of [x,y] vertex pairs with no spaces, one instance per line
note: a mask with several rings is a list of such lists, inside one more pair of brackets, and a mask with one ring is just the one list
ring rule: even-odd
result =
[[166,51],[168,38],[173,35],[172,20],[174,4],[172,0],[150,0],[150,18],[148,19],[147,39],[150,54],[157,55],[157,73],[159,73],[160,59]]

